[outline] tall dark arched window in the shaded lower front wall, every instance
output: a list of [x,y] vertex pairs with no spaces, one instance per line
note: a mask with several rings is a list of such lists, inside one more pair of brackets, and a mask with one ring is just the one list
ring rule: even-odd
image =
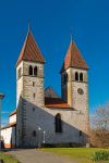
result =
[[62,121],[61,115],[58,113],[55,117],[56,123],[56,133],[62,133]]

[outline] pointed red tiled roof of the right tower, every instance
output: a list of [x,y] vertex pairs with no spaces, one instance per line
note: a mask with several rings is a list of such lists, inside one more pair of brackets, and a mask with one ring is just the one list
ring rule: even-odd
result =
[[80,50],[77,49],[74,41],[71,41],[69,50],[66,52],[61,72],[69,67],[77,67],[88,70],[87,64],[85,63]]

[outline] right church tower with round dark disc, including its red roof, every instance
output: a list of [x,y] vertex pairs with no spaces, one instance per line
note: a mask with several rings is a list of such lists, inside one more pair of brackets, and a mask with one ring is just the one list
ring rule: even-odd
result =
[[89,127],[87,70],[88,66],[75,42],[71,41],[61,68],[61,93],[75,110],[76,128],[85,134]]

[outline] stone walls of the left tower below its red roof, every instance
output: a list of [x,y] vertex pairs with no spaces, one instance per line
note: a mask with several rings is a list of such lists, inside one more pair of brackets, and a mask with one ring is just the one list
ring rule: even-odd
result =
[[[29,75],[29,65],[37,66],[37,76]],[[21,68],[21,75],[19,71]],[[44,106],[44,65],[34,62],[24,62],[16,68],[16,99],[17,99],[17,118],[16,135],[17,147],[27,146],[27,121],[28,110],[31,105]],[[33,110],[33,108],[31,106]]]

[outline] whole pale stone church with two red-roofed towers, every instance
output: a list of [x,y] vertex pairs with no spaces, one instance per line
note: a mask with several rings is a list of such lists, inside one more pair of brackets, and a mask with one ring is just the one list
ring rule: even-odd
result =
[[71,40],[62,67],[61,97],[44,88],[45,58],[29,29],[16,62],[16,109],[2,127],[4,148],[78,147],[88,143],[88,66]]

